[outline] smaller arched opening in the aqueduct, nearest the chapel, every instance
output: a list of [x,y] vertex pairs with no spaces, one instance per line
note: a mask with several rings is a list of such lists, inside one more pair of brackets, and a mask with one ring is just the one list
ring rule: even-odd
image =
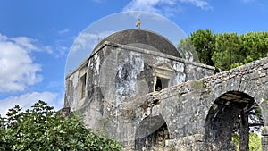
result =
[[169,130],[162,116],[148,117],[140,122],[135,136],[135,150],[164,150]]

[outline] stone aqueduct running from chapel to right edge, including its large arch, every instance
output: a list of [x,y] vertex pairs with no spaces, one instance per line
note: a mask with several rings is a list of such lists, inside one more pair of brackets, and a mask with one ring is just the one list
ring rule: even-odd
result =
[[262,147],[268,150],[267,64],[268,58],[265,58],[201,80],[188,81],[141,96],[131,105],[147,106],[146,111],[151,108],[156,111],[154,114],[161,113],[165,117],[171,138],[166,148],[204,151],[234,150],[234,146],[230,147],[231,137],[233,130],[238,130],[238,124],[239,131],[244,133],[244,147],[248,147],[249,125],[241,119],[247,120],[248,112],[257,106],[264,125],[259,130]]

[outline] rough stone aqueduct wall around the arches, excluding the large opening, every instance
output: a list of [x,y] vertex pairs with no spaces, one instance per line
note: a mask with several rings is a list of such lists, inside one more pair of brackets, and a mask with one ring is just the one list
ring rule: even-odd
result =
[[[130,103],[124,103],[121,105],[121,108],[130,111],[133,110],[133,116],[137,124],[142,123],[143,120],[148,118],[154,118],[159,115],[162,116],[164,122],[167,124],[170,138],[173,139],[167,142],[167,148],[181,149],[184,147],[188,149],[191,148],[190,150],[222,150],[223,143],[218,142],[221,145],[221,147],[219,147],[211,142],[207,142],[209,138],[206,138],[206,133],[209,131],[206,130],[206,126],[210,123],[206,122],[206,118],[210,116],[210,110],[216,110],[221,107],[221,105],[215,105],[214,103],[216,100],[219,100],[221,96],[224,96],[224,94],[232,92],[230,96],[227,95],[228,97],[225,98],[227,99],[226,103],[228,103],[228,99],[230,99],[230,102],[238,103],[238,105],[244,104],[236,101],[247,101],[247,97],[250,96],[262,110],[264,119],[264,149],[267,148],[268,124],[267,74],[268,58],[265,58],[230,71],[205,77],[201,80],[188,81],[171,88],[163,89],[160,92],[138,97]],[[239,95],[235,96],[236,93],[234,92],[248,96],[244,96],[244,98]],[[231,96],[238,98],[232,98]],[[229,112],[227,112],[227,115],[228,113]],[[229,118],[231,118],[231,113]],[[154,123],[154,121],[151,121],[150,124],[156,125],[155,130],[159,128],[159,125]],[[150,125],[147,125],[147,127],[149,126]],[[222,127],[219,126],[216,129],[224,131],[225,128],[232,128],[229,127],[230,125],[221,126]],[[226,135],[230,135],[230,133],[226,133]],[[226,136],[224,139],[225,140],[222,140],[222,142],[226,143],[230,138]],[[225,150],[234,149],[231,143],[226,144],[226,146],[228,146],[228,148],[225,148]]]

